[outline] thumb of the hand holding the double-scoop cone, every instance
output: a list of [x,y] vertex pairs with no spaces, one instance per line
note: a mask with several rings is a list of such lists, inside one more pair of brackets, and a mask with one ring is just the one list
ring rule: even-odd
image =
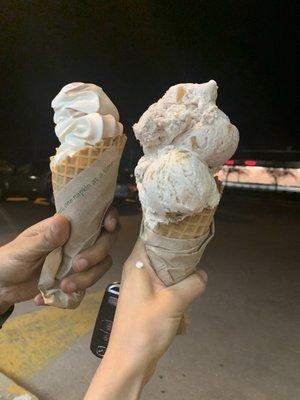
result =
[[169,287],[167,290],[173,294],[176,311],[184,312],[194,300],[204,293],[206,283],[206,272],[197,271],[183,281]]

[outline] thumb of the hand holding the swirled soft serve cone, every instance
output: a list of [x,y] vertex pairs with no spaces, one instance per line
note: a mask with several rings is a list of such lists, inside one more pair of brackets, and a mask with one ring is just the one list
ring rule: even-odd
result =
[[56,214],[43,221],[34,236],[26,238],[27,249],[44,255],[62,246],[68,240],[69,235],[69,221],[62,215]]

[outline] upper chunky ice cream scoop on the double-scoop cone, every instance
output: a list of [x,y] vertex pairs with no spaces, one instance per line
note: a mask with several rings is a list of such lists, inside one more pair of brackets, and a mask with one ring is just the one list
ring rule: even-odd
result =
[[216,106],[217,84],[182,83],[170,87],[133,126],[145,154],[174,144],[196,151],[209,167],[222,165],[235,152],[239,133]]

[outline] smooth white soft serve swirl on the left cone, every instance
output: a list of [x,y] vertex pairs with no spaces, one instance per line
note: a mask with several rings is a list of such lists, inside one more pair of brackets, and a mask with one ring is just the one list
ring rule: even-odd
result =
[[61,143],[51,165],[87,145],[123,133],[116,106],[102,88],[75,82],[64,86],[52,101],[55,133]]

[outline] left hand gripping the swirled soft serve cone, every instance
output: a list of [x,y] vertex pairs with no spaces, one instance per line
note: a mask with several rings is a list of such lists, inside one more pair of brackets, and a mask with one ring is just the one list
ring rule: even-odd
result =
[[[118,213],[110,208],[97,242],[74,258],[74,273],[61,282],[64,292],[87,289],[110,268],[112,261],[108,251],[116,239],[117,227]],[[68,240],[69,233],[68,220],[56,214],[0,247],[0,314],[12,304],[32,298],[36,305],[44,304],[37,288],[43,262],[52,250]]]

